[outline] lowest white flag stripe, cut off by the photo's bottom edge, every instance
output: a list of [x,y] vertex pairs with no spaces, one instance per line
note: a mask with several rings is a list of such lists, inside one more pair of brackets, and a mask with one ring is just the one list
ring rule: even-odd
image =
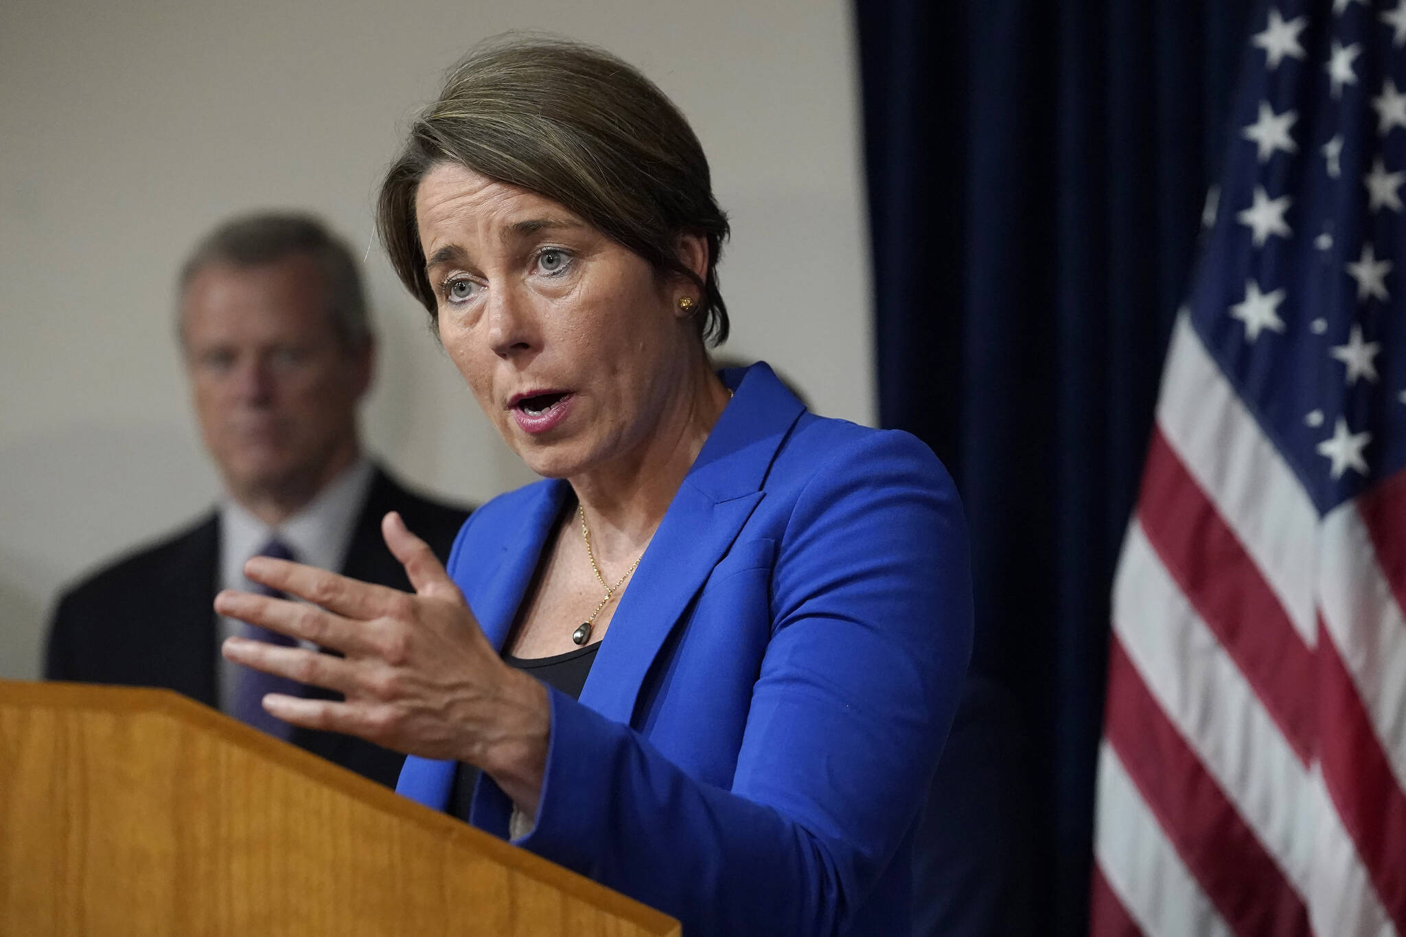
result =
[[1233,937],[1105,742],[1094,853],[1109,889],[1149,937]]

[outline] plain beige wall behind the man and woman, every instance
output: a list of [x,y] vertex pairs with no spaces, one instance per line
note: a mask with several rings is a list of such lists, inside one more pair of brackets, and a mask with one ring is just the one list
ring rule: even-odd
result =
[[[733,218],[734,339],[872,421],[848,3],[7,0],[0,4],[0,677],[38,673],[55,590],[207,506],[172,277],[228,214],[298,207],[368,251],[370,447],[484,500],[527,480],[371,243],[378,171],[474,41],[561,32],[693,122]],[[160,597],[153,596],[153,614]]]

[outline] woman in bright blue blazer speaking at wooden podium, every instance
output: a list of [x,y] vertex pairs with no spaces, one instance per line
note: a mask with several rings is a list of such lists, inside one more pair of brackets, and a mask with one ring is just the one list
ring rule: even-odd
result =
[[447,570],[388,514],[413,596],[249,561],[312,604],[217,610],[344,656],[225,656],[344,694],[264,707],[408,753],[402,794],[686,934],[908,933],[970,653],[962,509],[915,438],[710,368],[728,226],[688,122],[610,55],[499,42],[413,124],[378,223],[544,480],[474,513]]

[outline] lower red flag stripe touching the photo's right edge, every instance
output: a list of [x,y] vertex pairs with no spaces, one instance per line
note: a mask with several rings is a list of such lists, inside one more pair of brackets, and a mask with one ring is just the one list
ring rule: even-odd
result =
[[1398,931],[1406,931],[1406,797],[1331,638],[1319,641],[1323,780]]

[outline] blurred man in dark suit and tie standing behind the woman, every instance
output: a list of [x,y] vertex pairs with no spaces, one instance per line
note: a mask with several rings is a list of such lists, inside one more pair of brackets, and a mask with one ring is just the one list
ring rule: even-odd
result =
[[170,687],[391,785],[402,756],[269,716],[266,693],[329,694],[222,660],[229,635],[288,639],[211,607],[221,589],[259,589],[243,576],[254,555],[409,590],[381,541],[385,513],[399,511],[440,559],[467,516],[405,490],[361,451],[357,403],[375,346],[356,261],[311,218],[235,219],[181,270],[177,325],[224,496],[193,527],[60,597],[45,676]]

